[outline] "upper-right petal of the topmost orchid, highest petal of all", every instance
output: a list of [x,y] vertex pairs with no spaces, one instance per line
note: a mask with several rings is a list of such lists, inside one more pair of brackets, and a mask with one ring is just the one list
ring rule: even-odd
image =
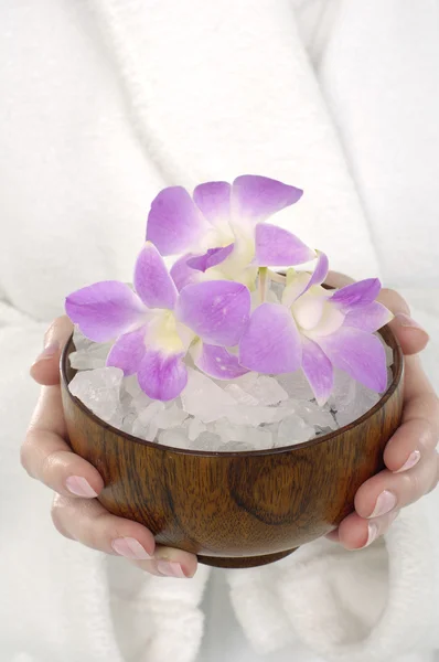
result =
[[257,174],[243,174],[232,186],[232,215],[256,225],[295,204],[303,191]]

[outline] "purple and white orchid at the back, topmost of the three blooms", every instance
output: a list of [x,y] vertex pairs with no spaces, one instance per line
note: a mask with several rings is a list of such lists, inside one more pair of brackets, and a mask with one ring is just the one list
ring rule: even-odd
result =
[[184,254],[171,269],[178,289],[188,282],[226,278],[250,284],[258,267],[293,266],[315,253],[267,218],[300,200],[303,191],[266,177],[245,174],[227,182],[206,182],[193,196],[170,186],[153,200],[147,239],[161,255]]

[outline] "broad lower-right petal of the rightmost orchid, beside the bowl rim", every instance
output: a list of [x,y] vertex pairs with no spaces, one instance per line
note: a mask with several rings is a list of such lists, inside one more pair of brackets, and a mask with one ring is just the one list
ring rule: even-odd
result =
[[376,335],[342,327],[332,335],[315,338],[334,367],[372,391],[383,393],[387,386],[386,353]]

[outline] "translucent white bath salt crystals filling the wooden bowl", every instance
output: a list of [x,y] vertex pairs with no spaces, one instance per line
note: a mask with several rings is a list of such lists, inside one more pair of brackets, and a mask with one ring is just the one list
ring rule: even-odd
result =
[[[278,376],[249,372],[223,382],[189,365],[181,396],[162,403],[141,391],[137,375],[124,377],[116,367],[92,367],[96,360],[105,362],[109,343],[93,343],[77,330],[75,338],[75,354],[87,356],[76,356],[83,367],[69,384],[72,394],[113,427],[168,447],[210,452],[282,448],[352,423],[382,397],[339,370],[329,402],[319,406],[301,370]],[[386,355],[390,365],[389,348]],[[388,383],[392,380],[388,367]]]

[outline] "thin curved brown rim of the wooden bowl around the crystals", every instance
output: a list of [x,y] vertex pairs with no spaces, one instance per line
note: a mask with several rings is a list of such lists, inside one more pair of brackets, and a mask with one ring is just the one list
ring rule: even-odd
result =
[[[292,444],[291,446],[281,446],[279,448],[265,448],[265,449],[260,449],[260,450],[234,450],[234,451],[228,450],[228,451],[216,451],[216,452],[208,451],[208,450],[193,450],[190,448],[174,448],[173,446],[161,446],[157,441],[148,441],[147,439],[140,439],[140,437],[135,437],[133,435],[130,435],[129,433],[125,433],[124,430],[113,427],[111,425],[109,425],[108,423],[106,423],[105,420],[103,420],[101,418],[96,416],[96,414],[94,414],[90,409],[88,409],[88,407],[86,407],[84,405],[84,403],[82,403],[76,396],[72,395],[72,393],[68,388],[69,382],[67,380],[67,355],[69,353],[71,345],[73,345],[73,332],[69,335],[65,346],[63,348],[62,354],[61,354],[60,373],[61,373],[61,380],[62,380],[62,383],[64,386],[64,391],[65,391],[67,397],[74,404],[74,406],[79,408],[81,412],[83,412],[83,414],[85,414],[87,416],[87,418],[89,418],[90,420],[93,420],[94,423],[99,425],[101,428],[107,429],[110,433],[113,433],[119,437],[122,437],[127,441],[131,441],[135,444],[140,444],[141,446],[154,448],[156,450],[161,450],[162,452],[175,452],[178,455],[199,456],[199,457],[205,457],[205,458],[215,457],[215,458],[225,458],[226,459],[226,458],[231,458],[231,457],[245,458],[245,457],[281,455],[281,453],[292,452],[295,450],[302,450],[304,448],[318,446],[319,444],[326,444],[328,441],[332,441],[340,435],[343,435],[344,433],[353,430],[354,428],[358,427],[364,421],[366,421],[368,418],[372,418],[372,416],[374,416],[377,412],[379,412],[379,409],[392,397],[392,395],[395,393],[396,388],[399,386],[400,380],[403,377],[403,372],[404,372],[403,350],[401,350],[401,346],[400,346],[397,338],[395,337],[395,334],[393,333],[393,331],[388,324],[386,324],[385,327],[379,329],[377,331],[377,333],[379,333],[384,338],[385,342],[387,344],[389,344],[394,351],[394,363],[392,365],[394,376],[393,376],[390,385],[383,393],[383,395],[378,399],[378,402],[371,409],[368,409],[365,414],[363,414],[363,416],[361,416],[360,418],[356,418],[349,425],[345,425],[345,426],[339,428],[338,430],[333,430],[332,433],[328,433],[326,435],[320,435],[319,437],[314,437],[313,439],[309,439],[308,441],[300,441],[299,444]],[[74,370],[74,369],[72,369],[72,370]],[[77,371],[75,371],[75,372],[77,372]]]

